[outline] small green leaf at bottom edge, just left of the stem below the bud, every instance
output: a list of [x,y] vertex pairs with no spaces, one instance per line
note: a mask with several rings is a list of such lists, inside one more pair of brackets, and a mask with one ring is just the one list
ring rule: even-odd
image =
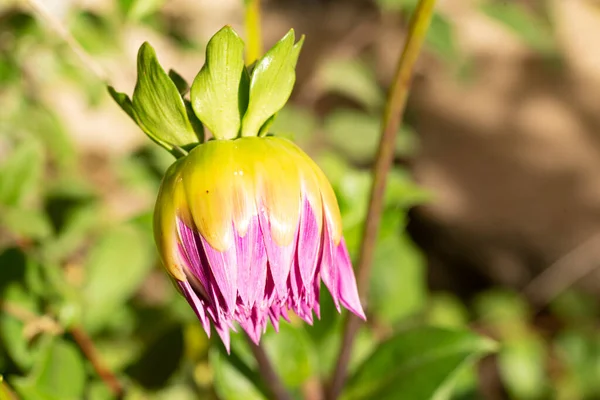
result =
[[214,346],[210,350],[210,365],[217,395],[222,400],[266,400],[254,383],[230,362],[227,355]]

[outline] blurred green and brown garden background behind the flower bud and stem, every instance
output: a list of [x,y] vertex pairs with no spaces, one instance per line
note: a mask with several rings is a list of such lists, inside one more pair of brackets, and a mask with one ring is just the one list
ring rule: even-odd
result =
[[[330,178],[353,256],[415,5],[263,1],[266,46],[290,27],[306,35],[272,131]],[[0,2],[0,391],[114,398],[76,345],[81,326],[126,398],[263,398],[163,273],[151,218],[172,159],[102,80],[132,93],[149,41],[165,69],[191,81],[220,27],[244,36],[242,0],[43,7],[49,18],[27,1]],[[501,346],[461,374],[453,398],[598,399],[599,264],[600,3],[439,0],[398,132],[351,371],[397,329],[469,327]],[[322,302],[314,327],[265,337],[298,398],[319,398],[339,343],[340,318]]]

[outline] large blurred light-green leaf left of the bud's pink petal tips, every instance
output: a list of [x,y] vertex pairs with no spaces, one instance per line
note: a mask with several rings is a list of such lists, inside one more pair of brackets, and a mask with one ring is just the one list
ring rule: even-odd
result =
[[85,265],[82,293],[88,329],[102,327],[137,290],[152,267],[153,253],[146,236],[131,226],[111,229],[100,238]]

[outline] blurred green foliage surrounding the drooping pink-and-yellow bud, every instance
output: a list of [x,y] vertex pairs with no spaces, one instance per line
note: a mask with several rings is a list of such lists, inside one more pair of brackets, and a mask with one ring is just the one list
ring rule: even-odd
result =
[[[119,57],[127,26],[152,29],[176,50],[201,51],[204,43],[167,24],[163,3],[119,0],[105,12],[74,7],[68,28],[93,55]],[[416,0],[377,3],[384,13],[406,16]],[[535,51],[557,51],[550,24],[529,9],[485,1],[481,12]],[[241,335],[234,335],[232,355],[226,355],[206,338],[159,266],[151,205],[170,156],[150,145],[100,159],[79,153],[52,97],[38,88],[69,85],[93,108],[108,101],[102,82],[28,10],[0,6],[0,21],[0,399],[114,398],[80,349],[74,327],[91,336],[125,383],[126,399],[267,398]],[[465,62],[442,13],[434,17],[426,51],[452,68]],[[321,94],[341,96],[343,105],[320,115],[292,102],[271,126],[311,150],[332,181],[354,258],[385,101],[373,71],[362,59],[324,63],[316,72]],[[476,361],[496,346],[473,328],[499,342],[491,358],[502,382],[499,396],[600,397],[596,299],[565,293],[549,307],[547,318],[557,327],[548,330],[518,293],[497,288],[468,301],[429,291],[425,255],[405,232],[408,210],[435,201],[400,162],[417,149],[417,135],[405,124],[388,181],[369,321],[359,332],[343,398],[480,398],[479,380],[489,371],[478,373]],[[92,176],[96,170],[100,181]],[[111,209],[118,191],[129,196],[120,201],[141,204],[133,215]],[[318,386],[335,364],[342,318],[327,293],[321,302],[322,318],[313,326],[293,319],[263,339],[294,398]]]

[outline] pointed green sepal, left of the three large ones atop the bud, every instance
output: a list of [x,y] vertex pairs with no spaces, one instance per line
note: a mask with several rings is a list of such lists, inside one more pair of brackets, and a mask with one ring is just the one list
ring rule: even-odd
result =
[[140,47],[137,69],[132,104],[142,130],[168,150],[197,143],[177,86],[158,63],[148,42]]

